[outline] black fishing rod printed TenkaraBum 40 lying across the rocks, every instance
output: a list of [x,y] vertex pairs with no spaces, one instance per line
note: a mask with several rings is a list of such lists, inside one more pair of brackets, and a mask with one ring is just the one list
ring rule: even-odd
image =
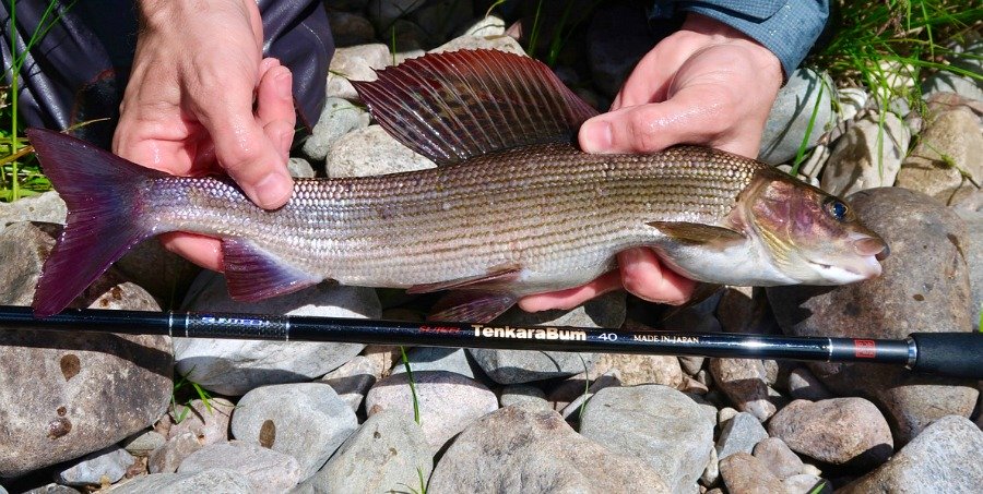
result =
[[37,318],[31,308],[22,306],[0,306],[0,328],[187,338],[869,362],[903,365],[927,374],[983,378],[983,334],[979,333],[915,333],[907,339],[828,338],[93,309],[69,309],[60,314]]

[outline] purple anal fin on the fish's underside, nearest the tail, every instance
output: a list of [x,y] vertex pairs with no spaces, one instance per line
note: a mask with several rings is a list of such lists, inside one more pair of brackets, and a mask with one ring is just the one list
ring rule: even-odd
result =
[[240,302],[292,293],[322,280],[280,261],[247,240],[223,239],[222,255],[228,294]]

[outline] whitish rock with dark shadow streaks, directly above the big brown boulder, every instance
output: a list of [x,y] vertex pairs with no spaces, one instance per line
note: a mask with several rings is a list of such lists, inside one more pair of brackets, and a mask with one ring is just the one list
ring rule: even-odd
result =
[[911,133],[895,113],[884,116],[883,126],[876,116],[858,120],[837,141],[822,172],[822,190],[842,197],[892,185],[910,141]]

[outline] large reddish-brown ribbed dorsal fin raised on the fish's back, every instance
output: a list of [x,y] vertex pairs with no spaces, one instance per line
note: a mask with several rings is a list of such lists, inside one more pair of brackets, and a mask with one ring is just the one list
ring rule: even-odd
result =
[[542,62],[498,50],[430,53],[354,82],[398,141],[449,165],[510,147],[570,142],[597,115]]

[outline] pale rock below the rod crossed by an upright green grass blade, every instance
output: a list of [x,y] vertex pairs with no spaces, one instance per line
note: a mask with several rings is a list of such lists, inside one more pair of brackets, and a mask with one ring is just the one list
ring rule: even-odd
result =
[[[414,372],[419,422],[431,451],[436,453],[459,432],[498,409],[498,398],[483,384],[447,371]],[[369,415],[393,410],[413,419],[413,391],[406,374],[386,377],[365,397]]]

